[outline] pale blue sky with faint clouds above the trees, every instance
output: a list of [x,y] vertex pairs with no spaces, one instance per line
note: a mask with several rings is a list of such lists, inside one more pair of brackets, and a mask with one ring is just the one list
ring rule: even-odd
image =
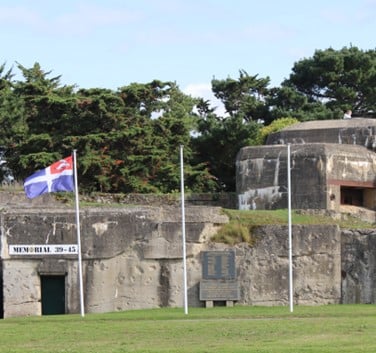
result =
[[0,64],[37,62],[77,88],[174,81],[210,99],[213,78],[244,70],[276,87],[317,49],[376,49],[375,18],[376,0],[2,0]]

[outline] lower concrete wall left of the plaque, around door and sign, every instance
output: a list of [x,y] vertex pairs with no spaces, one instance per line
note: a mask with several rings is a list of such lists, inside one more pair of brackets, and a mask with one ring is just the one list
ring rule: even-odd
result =
[[[176,207],[97,208],[81,211],[81,240],[88,312],[182,304],[182,226]],[[187,257],[227,222],[220,208],[186,209]],[[9,245],[74,244],[72,210],[7,210],[1,214],[4,317],[41,313],[41,274],[66,273],[66,312],[79,312],[75,255],[9,255]],[[197,247],[198,246],[198,247]],[[205,247],[205,246],[204,246]],[[197,271],[190,280],[198,281]],[[193,291],[193,292],[192,292]],[[198,304],[194,286],[189,299]]]

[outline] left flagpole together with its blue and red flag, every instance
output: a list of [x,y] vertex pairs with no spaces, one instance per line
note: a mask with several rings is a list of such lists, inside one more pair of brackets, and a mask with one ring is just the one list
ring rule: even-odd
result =
[[77,183],[77,162],[76,150],[73,156],[61,159],[45,169],[38,170],[25,179],[25,194],[29,199],[50,192],[74,191],[76,201],[76,228],[77,228],[77,248],[78,248],[78,272],[80,283],[80,307],[81,316],[84,313],[83,284],[82,284],[82,258],[81,258],[81,235],[80,217]]

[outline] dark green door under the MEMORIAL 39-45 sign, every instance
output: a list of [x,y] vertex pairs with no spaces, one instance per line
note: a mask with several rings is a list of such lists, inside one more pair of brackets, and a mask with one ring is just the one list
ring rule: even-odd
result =
[[41,276],[42,315],[65,314],[65,276]]

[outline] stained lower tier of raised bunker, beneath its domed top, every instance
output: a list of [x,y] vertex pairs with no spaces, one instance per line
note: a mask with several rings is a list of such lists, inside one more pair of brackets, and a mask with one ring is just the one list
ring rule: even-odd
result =
[[[376,154],[358,145],[291,145],[291,207],[339,211],[341,186],[364,188],[375,208]],[[287,208],[287,147],[244,147],[236,159],[239,209]]]

